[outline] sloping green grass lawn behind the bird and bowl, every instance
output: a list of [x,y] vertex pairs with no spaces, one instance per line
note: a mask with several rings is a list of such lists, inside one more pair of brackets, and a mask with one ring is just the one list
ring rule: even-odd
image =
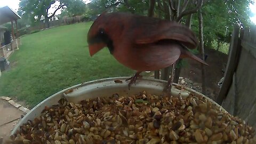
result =
[[90,57],[86,42],[91,22],[60,26],[21,38],[11,69],[0,77],[0,95],[16,97],[34,107],[50,95],[86,81],[131,76],[105,48]]

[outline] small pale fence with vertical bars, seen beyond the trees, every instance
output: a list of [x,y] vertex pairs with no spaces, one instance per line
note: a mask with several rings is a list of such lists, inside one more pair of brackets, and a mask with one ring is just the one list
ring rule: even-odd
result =
[[220,40],[214,40],[212,42],[211,48],[214,49],[214,50],[220,51],[222,53],[228,54],[229,45],[230,45],[230,43],[223,42],[223,41],[220,41]]

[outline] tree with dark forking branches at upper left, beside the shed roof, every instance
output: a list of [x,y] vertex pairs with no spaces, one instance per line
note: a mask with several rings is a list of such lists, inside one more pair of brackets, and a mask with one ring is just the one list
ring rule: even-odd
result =
[[[52,18],[58,10],[64,8],[70,1],[71,0],[21,0],[19,4],[19,11],[22,15],[27,15],[31,21],[39,21],[41,19],[41,15],[43,15],[45,18],[45,27],[49,28],[49,19]],[[59,4],[55,7],[55,11],[50,14],[49,9],[51,5],[57,3]]]

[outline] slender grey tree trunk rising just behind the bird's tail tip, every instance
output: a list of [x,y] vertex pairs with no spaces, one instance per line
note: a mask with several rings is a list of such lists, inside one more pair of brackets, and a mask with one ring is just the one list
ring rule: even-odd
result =
[[[202,16],[201,9],[199,9],[199,11],[198,11],[198,22],[199,22],[199,41],[200,41],[199,51],[200,51],[200,54],[202,55],[202,59],[204,61],[203,16]],[[203,63],[201,63],[201,67],[202,67],[202,93],[205,94],[206,93],[206,90],[205,90],[205,67],[204,67]]]

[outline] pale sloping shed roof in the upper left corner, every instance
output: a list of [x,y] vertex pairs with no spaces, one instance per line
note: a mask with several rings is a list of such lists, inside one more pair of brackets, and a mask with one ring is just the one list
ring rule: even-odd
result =
[[0,25],[18,19],[21,19],[20,15],[9,6],[0,7]]

